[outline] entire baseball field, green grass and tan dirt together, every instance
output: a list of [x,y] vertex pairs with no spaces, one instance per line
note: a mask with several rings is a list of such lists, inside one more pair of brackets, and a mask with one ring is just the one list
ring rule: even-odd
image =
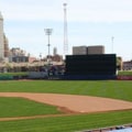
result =
[[132,81],[0,81],[1,132],[75,132],[132,123]]

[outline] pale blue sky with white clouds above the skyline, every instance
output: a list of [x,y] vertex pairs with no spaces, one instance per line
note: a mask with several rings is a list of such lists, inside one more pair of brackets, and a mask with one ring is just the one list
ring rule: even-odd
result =
[[132,59],[132,0],[0,0],[10,48],[45,57],[48,46],[44,29],[53,29],[51,54],[56,47],[64,55],[65,2],[68,54],[73,46],[103,45],[106,54]]

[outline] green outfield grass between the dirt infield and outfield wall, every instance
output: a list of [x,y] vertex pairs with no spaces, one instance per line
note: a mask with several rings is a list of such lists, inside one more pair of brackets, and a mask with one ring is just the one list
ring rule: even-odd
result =
[[132,81],[31,80],[0,81],[1,92],[47,92],[98,96],[132,101]]

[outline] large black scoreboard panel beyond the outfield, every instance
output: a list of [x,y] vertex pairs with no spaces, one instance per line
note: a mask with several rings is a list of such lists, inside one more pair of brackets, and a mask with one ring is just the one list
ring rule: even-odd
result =
[[66,75],[116,75],[116,54],[66,56]]

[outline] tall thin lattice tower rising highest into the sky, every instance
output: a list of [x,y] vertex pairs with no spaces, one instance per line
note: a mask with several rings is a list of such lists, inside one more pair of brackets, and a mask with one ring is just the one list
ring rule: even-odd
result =
[[64,6],[64,56],[68,53],[68,37],[67,37],[67,3]]

